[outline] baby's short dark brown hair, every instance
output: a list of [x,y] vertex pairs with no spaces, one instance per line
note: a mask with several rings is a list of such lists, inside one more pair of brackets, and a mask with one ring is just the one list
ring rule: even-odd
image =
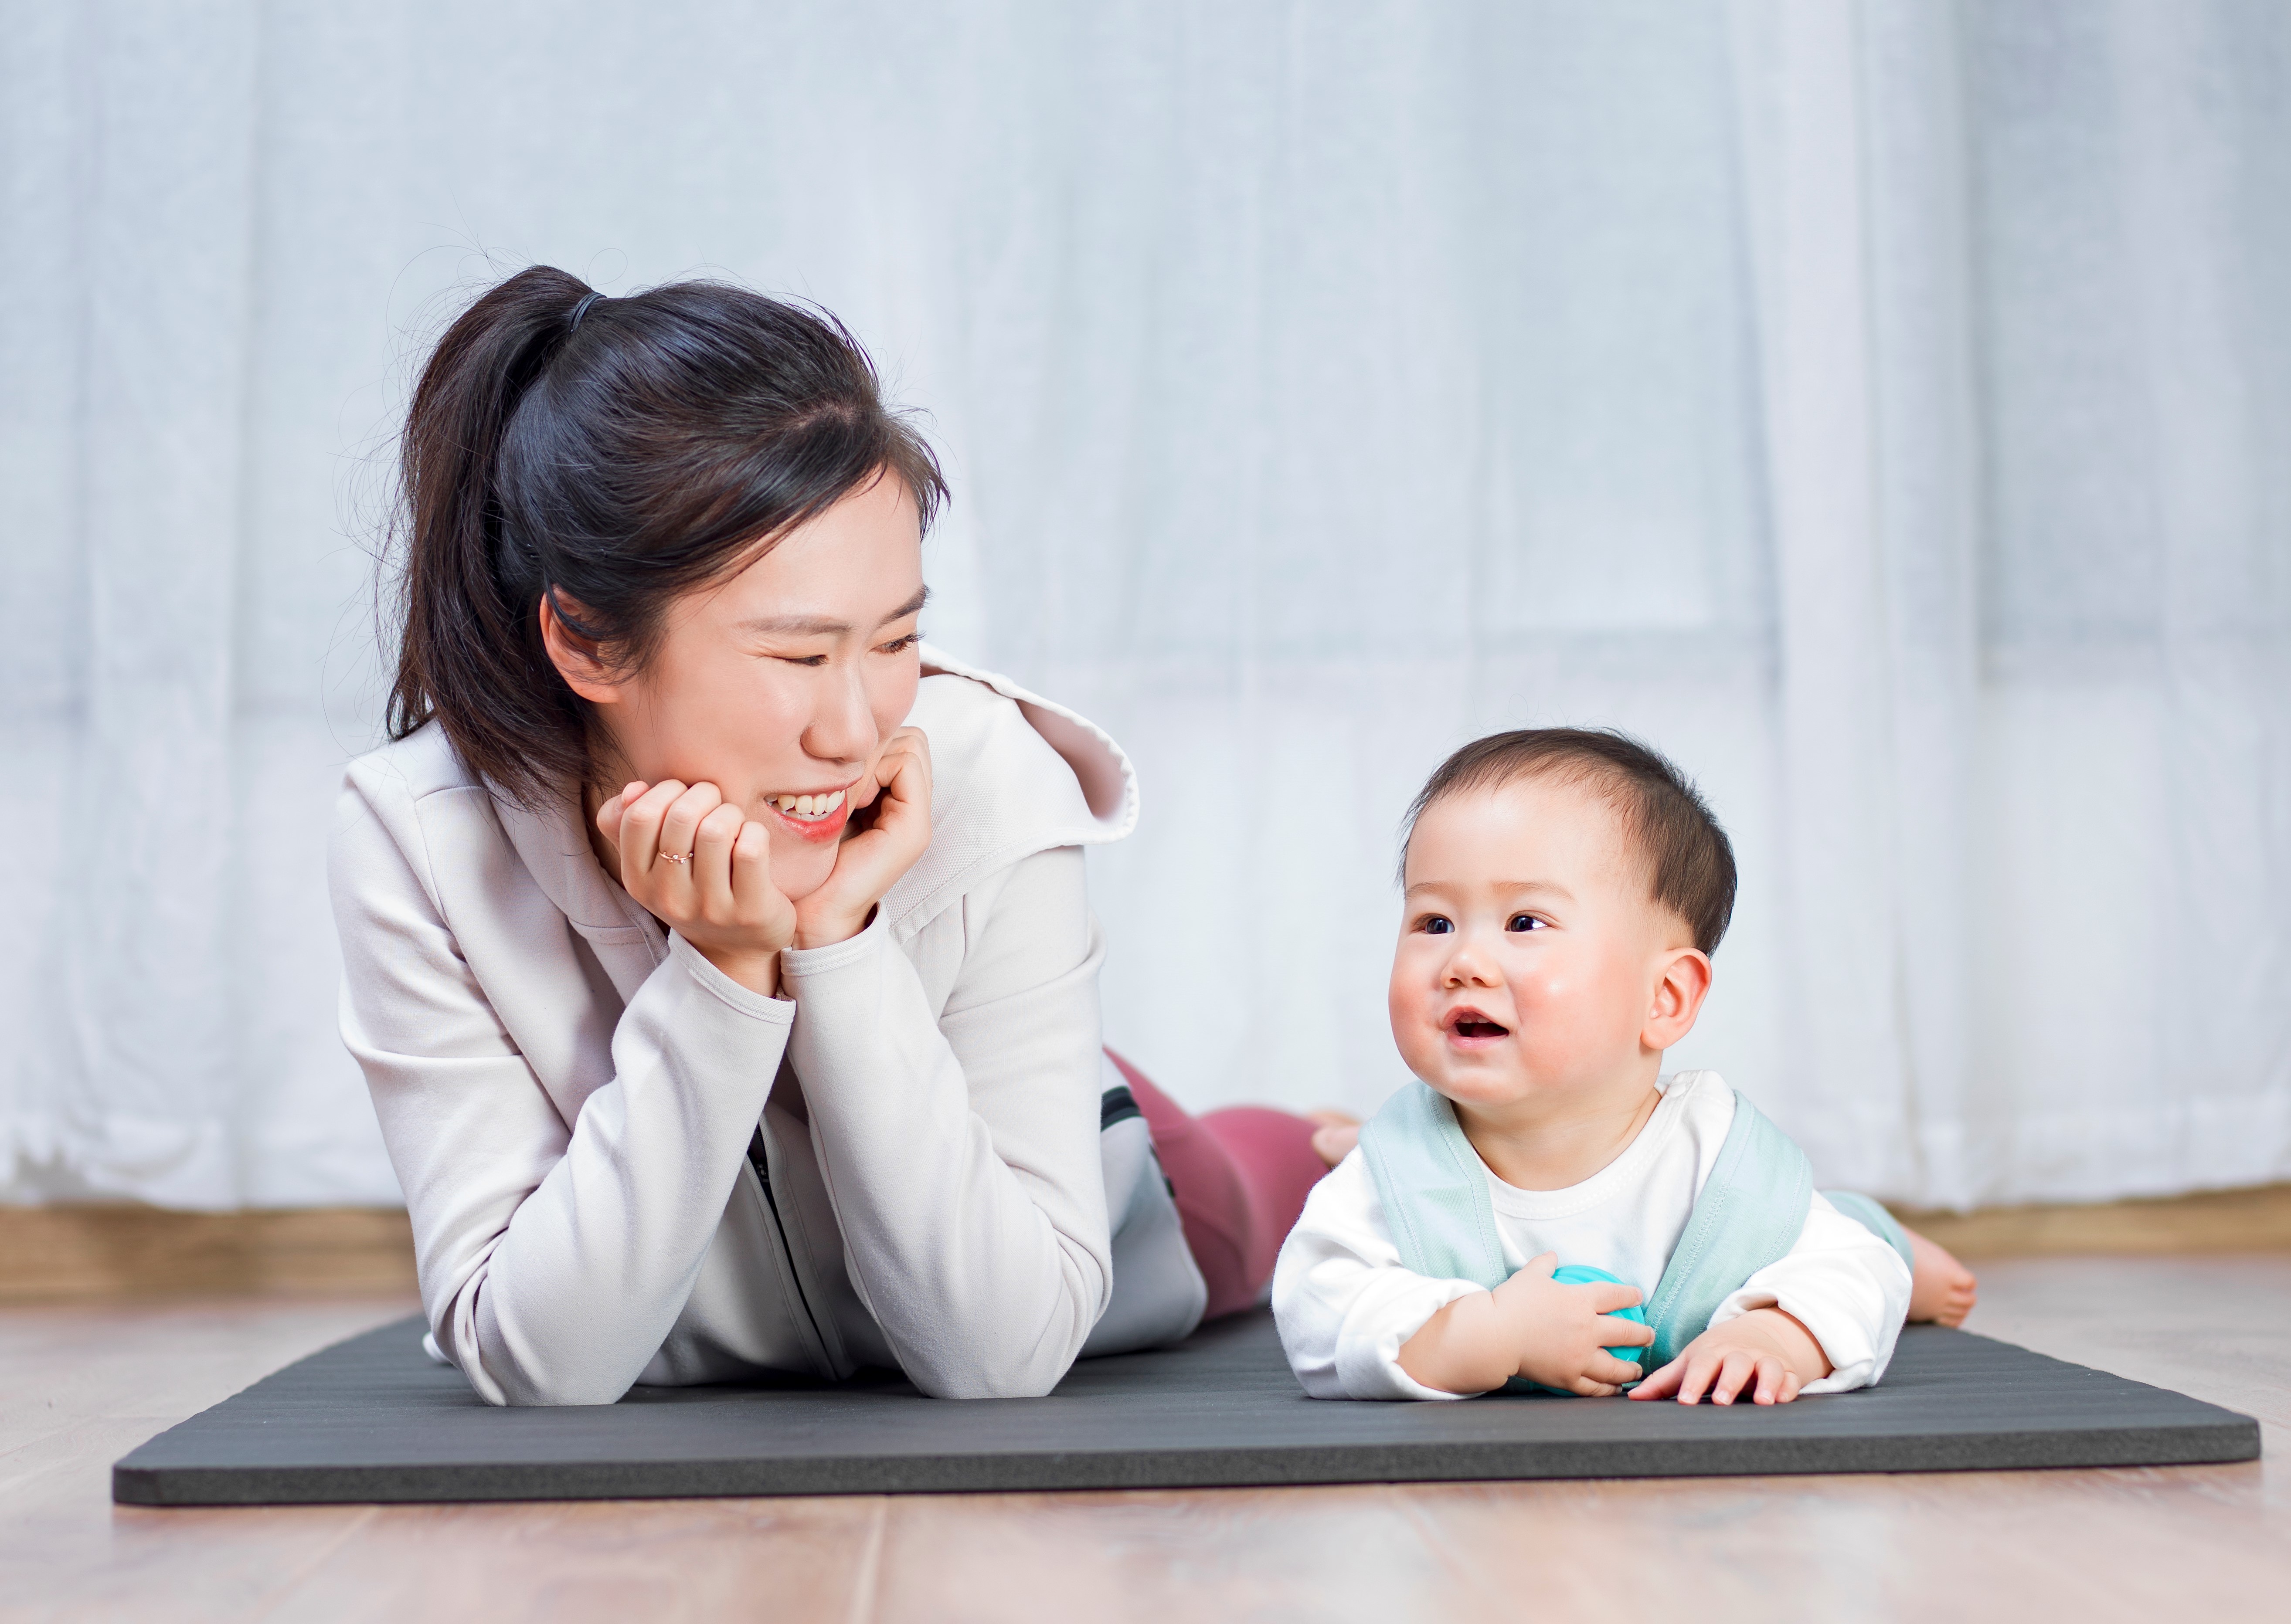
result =
[[1427,806],[1530,779],[1599,793],[1622,815],[1624,841],[1645,859],[1654,900],[1686,921],[1698,948],[1718,951],[1734,919],[1734,845],[1684,772],[1613,728],[1517,728],[1473,740],[1443,760],[1409,802],[1402,868]]

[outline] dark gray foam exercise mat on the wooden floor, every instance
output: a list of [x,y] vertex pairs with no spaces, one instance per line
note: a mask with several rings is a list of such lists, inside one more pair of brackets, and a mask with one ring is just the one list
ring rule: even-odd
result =
[[117,1466],[121,1505],[596,1500],[710,1493],[1173,1489],[1457,1477],[1691,1477],[2247,1461],[2259,1422],[1938,1326],[1863,1393],[1755,1409],[1304,1397],[1272,1315],[1093,1358],[1042,1400],[926,1400],[905,1381],[637,1388],[488,1409],[422,1356],[422,1322],[257,1381]]

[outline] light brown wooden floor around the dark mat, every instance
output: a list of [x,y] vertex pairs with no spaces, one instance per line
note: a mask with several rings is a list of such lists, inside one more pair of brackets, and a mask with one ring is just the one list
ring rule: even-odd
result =
[[110,1461],[410,1308],[0,1310],[0,1619],[2179,1619],[2291,1608],[2291,1258],[1991,1262],[1973,1326],[2266,1422],[2247,1466],[112,1507]]

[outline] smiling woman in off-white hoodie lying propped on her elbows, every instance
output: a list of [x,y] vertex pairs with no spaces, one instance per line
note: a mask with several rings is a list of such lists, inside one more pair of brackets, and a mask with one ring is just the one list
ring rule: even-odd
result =
[[1109,1070],[1081,848],[1129,763],[921,648],[944,483],[848,332],[532,268],[438,344],[403,479],[332,893],[440,1358],[493,1404],[1036,1395],[1253,1301],[1313,1125]]

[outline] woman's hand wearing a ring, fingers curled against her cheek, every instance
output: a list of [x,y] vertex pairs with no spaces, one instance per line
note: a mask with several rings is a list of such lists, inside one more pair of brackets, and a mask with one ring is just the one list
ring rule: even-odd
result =
[[779,996],[795,907],[772,884],[770,829],[717,786],[676,779],[625,786],[598,806],[596,827],[621,854],[621,884],[653,919],[749,992]]

